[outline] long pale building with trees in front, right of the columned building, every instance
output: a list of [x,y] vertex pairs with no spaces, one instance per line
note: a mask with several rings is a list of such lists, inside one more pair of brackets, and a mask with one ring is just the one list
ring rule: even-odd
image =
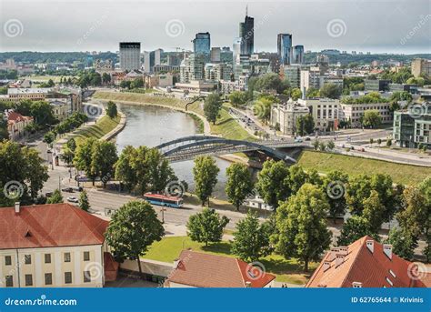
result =
[[345,104],[341,101],[341,115],[346,121],[350,121],[352,126],[361,126],[361,120],[367,110],[376,110],[382,117],[383,124],[390,124],[393,115],[389,109],[389,103],[356,103]]

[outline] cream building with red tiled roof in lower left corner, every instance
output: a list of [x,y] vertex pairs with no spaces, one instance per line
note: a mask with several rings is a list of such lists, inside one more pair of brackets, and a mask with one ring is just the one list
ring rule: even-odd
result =
[[0,220],[0,286],[104,286],[107,221],[69,204],[19,203],[0,209]]

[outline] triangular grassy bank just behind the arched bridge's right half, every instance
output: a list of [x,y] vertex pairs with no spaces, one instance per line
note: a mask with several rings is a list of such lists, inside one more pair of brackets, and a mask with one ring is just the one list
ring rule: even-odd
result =
[[216,125],[211,123],[211,133],[232,140],[256,141],[254,136],[251,136],[230,116],[225,106],[220,111],[220,118],[217,119]]

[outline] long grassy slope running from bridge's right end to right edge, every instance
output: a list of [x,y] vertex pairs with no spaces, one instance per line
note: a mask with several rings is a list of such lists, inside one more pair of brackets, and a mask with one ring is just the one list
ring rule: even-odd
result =
[[304,151],[299,157],[298,164],[305,169],[314,168],[321,173],[340,170],[348,175],[387,174],[392,176],[394,183],[403,185],[416,185],[427,176],[431,176],[431,167],[403,165],[383,160],[316,151]]

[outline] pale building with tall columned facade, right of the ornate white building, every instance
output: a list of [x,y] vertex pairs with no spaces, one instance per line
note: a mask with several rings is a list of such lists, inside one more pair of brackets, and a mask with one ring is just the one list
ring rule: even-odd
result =
[[340,121],[340,101],[332,98],[298,99],[298,103],[308,107],[313,116],[315,128],[321,132],[336,131]]

